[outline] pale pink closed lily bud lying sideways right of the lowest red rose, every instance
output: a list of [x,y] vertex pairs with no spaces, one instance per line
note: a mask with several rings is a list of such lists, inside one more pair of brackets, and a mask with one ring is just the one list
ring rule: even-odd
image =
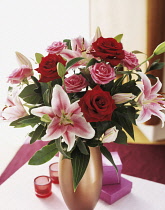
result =
[[123,104],[127,101],[130,101],[134,99],[136,96],[132,93],[117,93],[112,96],[113,100],[115,101],[115,104]]

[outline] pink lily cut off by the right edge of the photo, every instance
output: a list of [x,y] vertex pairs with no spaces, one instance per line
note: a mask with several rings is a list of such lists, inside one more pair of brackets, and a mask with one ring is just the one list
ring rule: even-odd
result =
[[162,83],[157,77],[157,82],[152,86],[149,78],[145,74],[141,72],[138,74],[142,79],[142,84],[138,85],[142,94],[138,99],[138,105],[141,107],[141,111],[137,121],[143,123],[149,120],[151,115],[155,115],[161,119],[162,127],[164,127],[165,114],[160,110],[165,109],[165,99],[158,94]]

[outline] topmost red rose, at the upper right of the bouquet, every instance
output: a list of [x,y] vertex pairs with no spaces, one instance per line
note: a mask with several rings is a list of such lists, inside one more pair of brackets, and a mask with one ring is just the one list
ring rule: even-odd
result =
[[91,54],[100,57],[104,61],[109,62],[112,66],[116,66],[124,59],[124,50],[121,43],[113,38],[100,37],[96,42],[92,43],[94,51]]

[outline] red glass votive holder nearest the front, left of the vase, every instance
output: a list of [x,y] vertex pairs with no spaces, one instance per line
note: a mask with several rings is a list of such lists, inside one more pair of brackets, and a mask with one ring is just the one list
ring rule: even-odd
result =
[[52,181],[48,176],[38,176],[34,179],[36,196],[40,198],[49,197],[52,194]]

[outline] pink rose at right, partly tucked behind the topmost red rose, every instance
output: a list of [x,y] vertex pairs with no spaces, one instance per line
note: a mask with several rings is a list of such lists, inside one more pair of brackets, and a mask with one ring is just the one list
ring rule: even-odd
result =
[[121,61],[121,64],[127,69],[133,69],[139,65],[138,59],[135,54],[124,50],[125,58]]

